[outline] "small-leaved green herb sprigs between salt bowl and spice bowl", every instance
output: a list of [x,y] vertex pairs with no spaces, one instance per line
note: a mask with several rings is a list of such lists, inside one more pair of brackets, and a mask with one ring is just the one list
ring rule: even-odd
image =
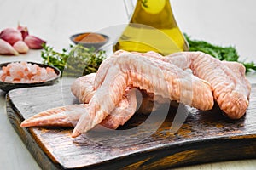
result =
[[95,48],[84,48],[82,45],[70,45],[61,52],[44,44],[41,52],[44,64],[54,65],[61,70],[62,76],[81,77],[96,72],[102,61],[106,59],[105,51]]

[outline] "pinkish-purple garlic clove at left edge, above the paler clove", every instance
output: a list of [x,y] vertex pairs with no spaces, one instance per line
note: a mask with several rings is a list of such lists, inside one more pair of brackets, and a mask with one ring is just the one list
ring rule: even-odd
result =
[[22,40],[22,34],[14,28],[6,28],[1,31],[0,38],[13,45],[15,42]]

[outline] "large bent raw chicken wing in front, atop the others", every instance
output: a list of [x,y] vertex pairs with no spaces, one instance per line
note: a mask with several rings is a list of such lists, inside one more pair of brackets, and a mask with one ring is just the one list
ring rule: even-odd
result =
[[[212,88],[207,82],[160,59],[122,51],[102,62],[94,83],[96,92],[89,104],[68,105],[65,111],[60,108],[51,111],[62,111],[68,115],[82,113],[73,130],[73,137],[76,137],[101,123],[118,105],[129,85],[201,110],[212,109]],[[69,121],[72,123],[73,120]],[[21,126],[37,125],[28,119]]]

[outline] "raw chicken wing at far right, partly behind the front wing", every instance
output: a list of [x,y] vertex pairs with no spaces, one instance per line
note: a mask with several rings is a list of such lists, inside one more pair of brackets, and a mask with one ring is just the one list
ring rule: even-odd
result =
[[245,77],[243,65],[220,61],[202,52],[183,52],[163,59],[182,69],[190,68],[196,77],[210,82],[219,108],[231,119],[239,119],[245,114],[251,84]]

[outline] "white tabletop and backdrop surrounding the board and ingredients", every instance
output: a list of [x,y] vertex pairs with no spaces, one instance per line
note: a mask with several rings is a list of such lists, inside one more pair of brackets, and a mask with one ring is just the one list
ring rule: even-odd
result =
[[[218,45],[236,46],[242,60],[256,62],[256,1],[172,0],[183,32]],[[33,35],[56,49],[67,48],[69,36],[80,31],[101,31],[128,22],[121,0],[0,0],[0,30],[27,26]],[[41,62],[40,50],[20,56],[0,56],[0,63],[15,60]],[[256,73],[247,74],[256,83]],[[5,94],[0,90],[0,169],[40,169],[6,116]],[[256,160],[225,161],[178,169],[255,169]]]

